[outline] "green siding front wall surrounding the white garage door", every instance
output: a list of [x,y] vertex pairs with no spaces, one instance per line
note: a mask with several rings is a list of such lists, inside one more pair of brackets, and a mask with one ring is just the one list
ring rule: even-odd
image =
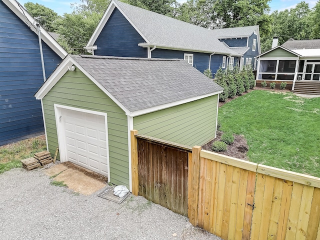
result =
[[54,103],[107,113],[109,181],[129,187],[127,116],[124,111],[81,71],[67,71],[43,98],[45,127],[51,154],[54,154],[58,146]]

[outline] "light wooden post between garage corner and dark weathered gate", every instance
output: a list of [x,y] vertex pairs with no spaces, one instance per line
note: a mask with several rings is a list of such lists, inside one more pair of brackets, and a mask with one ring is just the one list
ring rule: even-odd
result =
[[132,194],[137,196],[139,191],[139,178],[138,178],[138,150],[137,140],[135,135],[137,130],[131,130],[131,175],[132,175]]

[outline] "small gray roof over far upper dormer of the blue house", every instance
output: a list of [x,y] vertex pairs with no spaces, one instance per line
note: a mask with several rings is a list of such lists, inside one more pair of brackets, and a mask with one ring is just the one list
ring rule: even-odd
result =
[[212,29],[214,35],[217,38],[234,38],[234,37],[248,37],[252,35],[254,31],[258,33],[259,26],[239,26],[239,27],[228,27],[228,28],[217,28]]

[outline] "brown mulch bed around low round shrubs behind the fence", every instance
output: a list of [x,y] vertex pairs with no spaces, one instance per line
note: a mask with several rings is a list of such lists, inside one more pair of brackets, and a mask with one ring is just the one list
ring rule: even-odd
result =
[[[216,138],[214,138],[213,140],[209,141],[208,143],[202,145],[202,149],[207,150],[207,151],[212,151],[212,149],[211,149],[212,142],[221,140],[220,137],[221,137],[222,133],[223,133],[222,131],[217,131]],[[246,153],[247,153],[249,147],[248,147],[248,144],[246,143],[246,139],[244,138],[243,135],[233,134],[233,136],[234,136],[234,141],[233,141],[233,143],[228,145],[227,150],[226,151],[219,151],[217,153],[220,153],[220,154],[223,154],[226,156],[232,156],[232,157],[242,159],[242,160],[248,160]]]

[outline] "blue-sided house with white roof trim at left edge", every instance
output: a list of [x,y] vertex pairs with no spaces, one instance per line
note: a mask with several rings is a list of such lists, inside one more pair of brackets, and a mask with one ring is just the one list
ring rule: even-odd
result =
[[0,1],[0,145],[44,133],[33,95],[66,55],[23,6]]

